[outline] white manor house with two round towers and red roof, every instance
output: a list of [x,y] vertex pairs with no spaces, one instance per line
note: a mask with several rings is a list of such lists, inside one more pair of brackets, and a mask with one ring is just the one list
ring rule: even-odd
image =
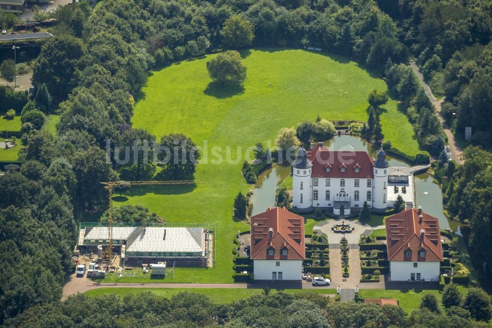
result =
[[390,166],[381,149],[373,161],[366,151],[331,151],[319,142],[309,151],[301,148],[292,164],[293,206],[299,211],[333,209],[349,215],[368,202],[373,211],[392,207],[398,195],[413,207],[410,167]]

